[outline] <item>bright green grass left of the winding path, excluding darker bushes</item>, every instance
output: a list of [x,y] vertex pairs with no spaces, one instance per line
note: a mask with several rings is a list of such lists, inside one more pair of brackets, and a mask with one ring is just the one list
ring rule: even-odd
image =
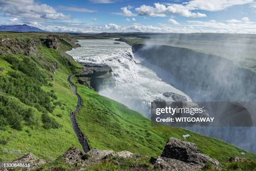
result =
[[[28,38],[31,37],[29,34],[21,35]],[[60,47],[65,49],[71,48],[70,46],[68,47],[62,44]],[[5,127],[4,130],[0,130],[0,161],[12,161],[15,158],[24,156],[26,153],[33,153],[38,158],[53,160],[67,151],[71,146],[82,149],[69,119],[70,112],[77,105],[77,97],[72,93],[71,87],[67,83],[67,77],[78,71],[81,66],[75,64],[75,62],[67,56],[61,56],[59,49],[54,50],[42,45],[37,48],[36,56],[30,55],[30,58],[48,78],[51,76],[55,79],[55,81],[48,79],[48,83],[51,83],[51,86],[43,85],[41,89],[45,92],[54,91],[54,94],[56,94],[56,102],[58,103],[54,111],[49,113],[49,116],[54,118],[61,127],[57,129],[44,129],[42,128],[43,123],[41,121],[36,126],[23,123],[23,128],[20,131]],[[24,58],[22,54],[12,55],[17,59],[21,57]],[[53,62],[57,62],[59,65],[59,68],[56,69],[56,74],[48,70],[48,66]],[[69,62],[71,65],[69,65]],[[0,72],[0,75],[4,77],[9,77],[9,71],[13,71],[11,64],[5,61],[2,55],[0,56],[0,67],[4,68],[4,71]],[[12,98],[22,107],[31,107],[1,90],[0,94]],[[61,103],[61,105],[59,103]],[[36,110],[36,108],[34,108],[34,110],[35,115],[40,118],[42,113]]]

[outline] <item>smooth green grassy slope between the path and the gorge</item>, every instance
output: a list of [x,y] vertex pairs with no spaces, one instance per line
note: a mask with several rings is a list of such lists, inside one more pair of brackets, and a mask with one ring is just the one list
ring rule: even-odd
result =
[[[161,155],[167,140],[175,137],[196,143],[202,153],[222,162],[227,161],[231,156],[256,159],[256,154],[248,153],[223,140],[183,128],[152,127],[151,121],[140,113],[100,96],[97,92],[78,84],[75,78],[72,81],[77,85],[77,92],[82,97],[83,107],[77,113],[78,123],[87,136],[91,148],[127,150],[156,157]],[[184,139],[182,135],[185,134],[191,136]]]

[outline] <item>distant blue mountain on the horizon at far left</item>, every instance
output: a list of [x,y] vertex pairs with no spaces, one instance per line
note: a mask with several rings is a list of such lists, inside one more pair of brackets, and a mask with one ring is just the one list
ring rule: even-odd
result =
[[28,26],[26,24],[13,25],[13,26],[2,25],[2,26],[0,26],[0,31],[17,31],[17,32],[39,31],[39,32],[46,32],[44,30],[41,30],[40,28],[36,28],[36,27],[33,27],[33,26]]

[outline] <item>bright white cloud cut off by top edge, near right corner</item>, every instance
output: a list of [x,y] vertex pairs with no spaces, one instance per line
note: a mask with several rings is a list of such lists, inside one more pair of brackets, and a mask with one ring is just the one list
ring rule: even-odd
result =
[[191,0],[184,3],[191,10],[221,11],[234,5],[252,3],[253,0]]

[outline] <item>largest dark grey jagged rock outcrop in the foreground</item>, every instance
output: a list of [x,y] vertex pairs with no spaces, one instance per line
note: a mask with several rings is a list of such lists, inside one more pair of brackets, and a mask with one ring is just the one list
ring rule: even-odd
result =
[[170,138],[161,156],[156,159],[155,165],[166,171],[195,171],[209,162],[218,168],[219,162],[202,154],[195,143]]

